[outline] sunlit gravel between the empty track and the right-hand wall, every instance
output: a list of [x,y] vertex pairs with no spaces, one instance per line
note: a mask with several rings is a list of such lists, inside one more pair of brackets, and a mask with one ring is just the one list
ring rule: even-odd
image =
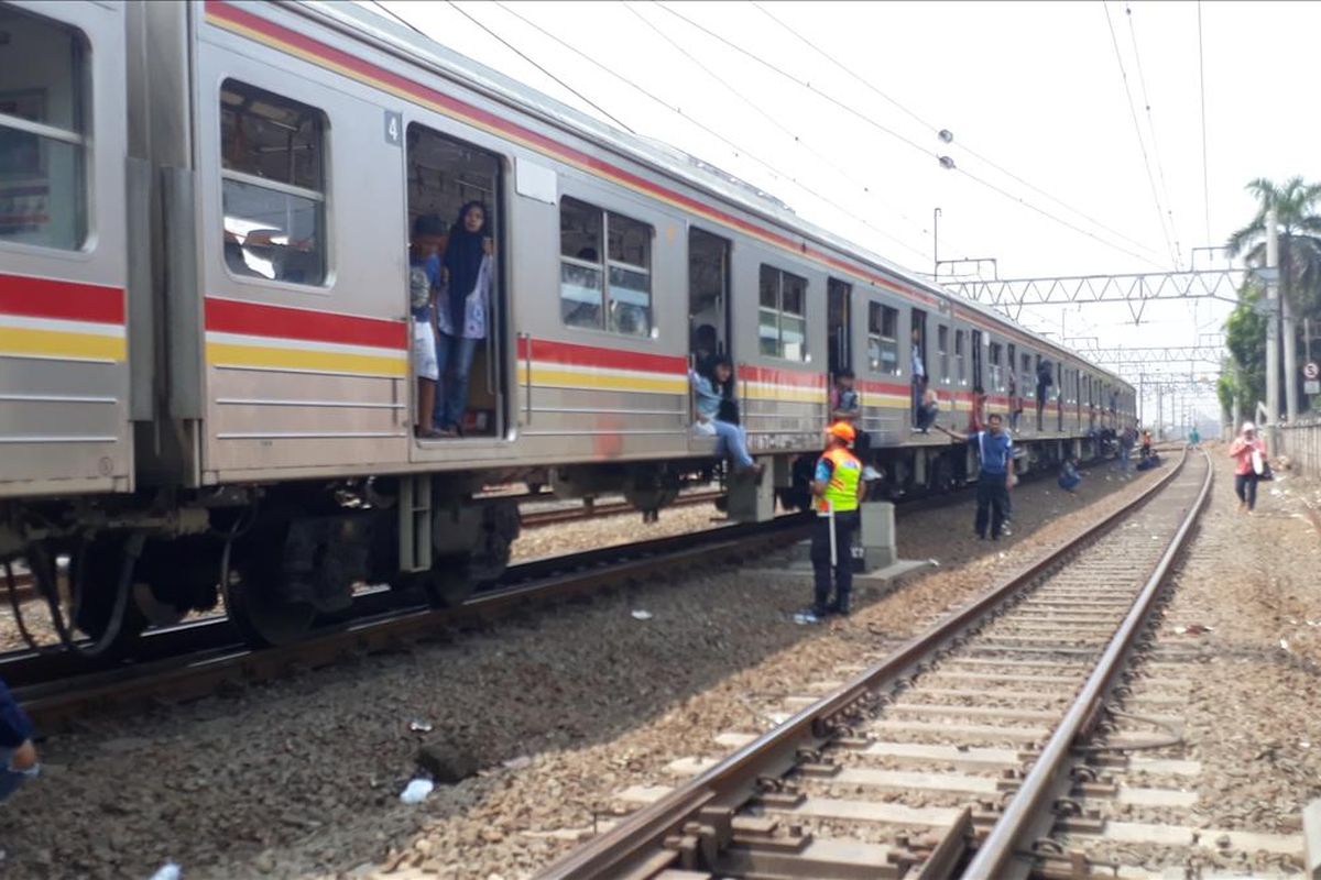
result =
[[1281,474],[1244,516],[1232,462],[1210,453],[1213,496],[1160,629],[1161,645],[1202,656],[1184,707],[1205,767],[1194,817],[1292,834],[1321,797],[1321,534],[1305,512],[1321,486]]

